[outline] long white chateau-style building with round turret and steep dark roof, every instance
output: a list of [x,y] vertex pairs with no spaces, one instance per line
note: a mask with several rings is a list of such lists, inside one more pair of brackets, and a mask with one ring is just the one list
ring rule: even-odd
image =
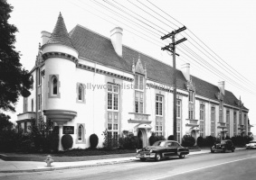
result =
[[[89,148],[95,133],[114,138],[133,133],[148,144],[152,132],[173,135],[174,68],[122,45],[122,29],[106,38],[81,25],[67,31],[62,14],[52,33],[42,31],[42,46],[31,74],[33,89],[24,98],[18,125],[53,121],[60,138],[71,134],[73,148]],[[249,110],[241,98],[190,75],[190,65],[177,70],[176,137],[248,135]],[[62,149],[60,143],[59,149]]]

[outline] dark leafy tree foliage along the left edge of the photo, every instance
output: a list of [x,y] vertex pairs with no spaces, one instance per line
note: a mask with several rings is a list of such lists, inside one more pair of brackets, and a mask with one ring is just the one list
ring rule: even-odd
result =
[[15,50],[14,24],[9,24],[13,6],[0,0],[0,109],[15,112],[19,95],[27,97],[33,79],[20,63],[20,52]]

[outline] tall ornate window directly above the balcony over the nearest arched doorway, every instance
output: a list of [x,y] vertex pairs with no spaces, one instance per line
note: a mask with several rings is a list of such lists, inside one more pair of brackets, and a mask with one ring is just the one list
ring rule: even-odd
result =
[[144,112],[144,76],[135,75],[135,112]]

